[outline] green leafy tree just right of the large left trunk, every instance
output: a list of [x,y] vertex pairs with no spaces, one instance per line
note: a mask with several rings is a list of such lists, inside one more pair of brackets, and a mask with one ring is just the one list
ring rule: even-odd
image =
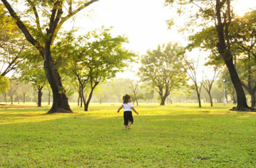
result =
[[114,78],[135,56],[123,49],[122,43],[128,42],[126,38],[112,37],[109,31],[102,29],[99,33],[90,33],[87,38],[91,35],[94,39],[92,42],[80,37],[71,53],[74,75],[80,85],[84,83],[90,88],[84,111],[88,111],[95,87],[102,81]]

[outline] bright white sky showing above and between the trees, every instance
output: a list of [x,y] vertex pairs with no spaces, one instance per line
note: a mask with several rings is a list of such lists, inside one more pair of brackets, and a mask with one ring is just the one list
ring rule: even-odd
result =
[[[239,15],[256,6],[255,0],[234,0],[232,4]],[[177,27],[167,29],[166,20],[176,13],[164,7],[164,0],[99,0],[90,9],[90,17],[79,14],[75,21],[75,25],[82,28],[81,33],[100,29],[101,26],[114,27],[113,36],[126,35],[129,44],[124,47],[139,55],[144,55],[148,49],[156,49],[158,44],[170,41],[181,45],[187,43],[185,37],[177,33]],[[178,18],[176,24],[184,25]],[[117,74],[120,78],[131,76],[129,72]]]

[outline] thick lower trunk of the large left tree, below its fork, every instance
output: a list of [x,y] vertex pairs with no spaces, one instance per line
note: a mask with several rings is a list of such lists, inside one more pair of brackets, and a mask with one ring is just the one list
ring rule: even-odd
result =
[[66,91],[62,86],[58,70],[55,68],[52,62],[50,44],[51,40],[46,39],[44,51],[44,68],[53,94],[52,108],[48,111],[48,113],[73,113],[70,109]]

